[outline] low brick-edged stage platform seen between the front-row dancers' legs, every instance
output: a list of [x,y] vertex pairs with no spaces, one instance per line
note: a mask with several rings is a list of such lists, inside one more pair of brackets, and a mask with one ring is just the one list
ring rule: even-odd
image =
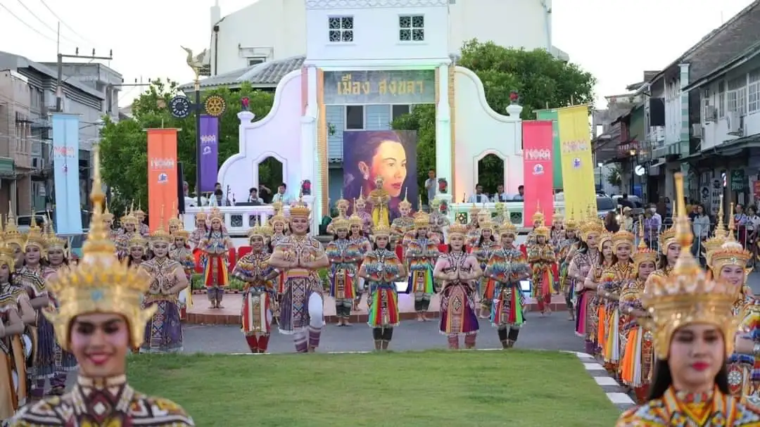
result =
[[[414,296],[401,294],[398,296],[398,304],[401,310],[401,320],[414,320]],[[208,299],[204,293],[194,293],[193,306],[188,308],[188,324],[241,324],[240,308],[242,305],[242,295],[240,293],[227,293],[222,301],[223,308],[211,308]],[[438,318],[438,308],[440,306],[439,296],[434,295],[430,302],[430,311],[427,313],[428,318]],[[364,323],[367,321],[367,304],[366,296],[362,297],[359,304],[359,310],[351,312],[351,323]],[[537,312],[538,305],[529,299],[526,309]],[[565,297],[556,295],[552,297],[551,309],[556,312],[555,315],[566,315]],[[335,323],[335,302],[334,299],[325,297],[325,321]]]

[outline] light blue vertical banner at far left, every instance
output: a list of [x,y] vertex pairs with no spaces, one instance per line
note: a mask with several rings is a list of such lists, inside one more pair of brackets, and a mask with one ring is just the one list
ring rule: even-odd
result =
[[82,232],[79,195],[79,115],[52,113],[52,167],[55,171],[55,231]]

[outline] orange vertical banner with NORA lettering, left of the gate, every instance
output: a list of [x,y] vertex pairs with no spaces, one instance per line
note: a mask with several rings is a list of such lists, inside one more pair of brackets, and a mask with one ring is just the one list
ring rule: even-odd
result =
[[[177,129],[147,130],[148,225],[155,231],[175,215],[177,204]],[[163,210],[163,218],[162,218]]]

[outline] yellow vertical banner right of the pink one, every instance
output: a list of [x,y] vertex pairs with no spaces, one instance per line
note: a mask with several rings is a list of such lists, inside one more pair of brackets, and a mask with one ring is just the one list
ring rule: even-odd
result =
[[588,106],[581,105],[558,109],[557,122],[559,124],[559,144],[562,148],[562,186],[565,195],[565,213],[572,212],[575,220],[580,220],[589,207],[594,211],[597,208]]

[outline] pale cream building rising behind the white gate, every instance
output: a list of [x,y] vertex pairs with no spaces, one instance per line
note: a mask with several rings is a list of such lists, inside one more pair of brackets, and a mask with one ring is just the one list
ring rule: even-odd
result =
[[[385,8],[389,15],[397,16],[401,0],[366,0],[365,7]],[[336,7],[332,0],[253,0],[252,4],[222,17],[221,8],[211,8],[211,45],[209,61],[211,75],[225,74],[240,68],[292,58],[306,53],[306,6]],[[429,0],[415,0],[414,5],[424,7]],[[552,45],[552,0],[449,0],[448,20],[440,21],[445,28],[433,28],[428,22],[417,22],[423,27],[410,27],[440,34],[440,39],[426,37],[426,42],[443,43],[448,54],[459,52],[466,40],[490,40],[500,46],[524,49],[549,49],[556,56],[568,60],[565,52]],[[444,24],[446,22],[446,24]],[[356,21],[359,33],[404,31],[399,23],[378,25],[377,21]],[[327,24],[321,23],[320,26]],[[315,31],[312,30],[312,31]],[[321,34],[319,37],[324,38]],[[404,56],[404,49],[397,51]],[[388,56],[388,55],[386,55]]]

